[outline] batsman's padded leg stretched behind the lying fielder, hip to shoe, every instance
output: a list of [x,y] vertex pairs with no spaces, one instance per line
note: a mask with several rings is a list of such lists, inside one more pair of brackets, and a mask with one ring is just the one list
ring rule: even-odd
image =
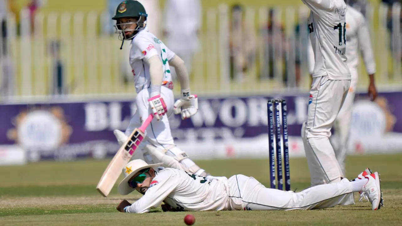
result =
[[[168,115],[165,115],[159,121],[152,120],[146,129],[146,137],[150,145],[144,146],[144,153],[152,154],[154,158],[163,161],[166,167],[180,168],[178,164],[181,164],[181,169],[197,175],[206,176],[205,170],[199,168],[183,150],[180,150],[180,148],[176,147],[174,144],[168,120],[168,116],[173,112],[174,96],[172,90],[162,86],[161,96],[168,108]],[[150,114],[148,110],[148,99],[148,90],[142,90],[138,93],[136,98],[137,111],[142,119],[145,119]],[[162,156],[160,153],[167,156]]]

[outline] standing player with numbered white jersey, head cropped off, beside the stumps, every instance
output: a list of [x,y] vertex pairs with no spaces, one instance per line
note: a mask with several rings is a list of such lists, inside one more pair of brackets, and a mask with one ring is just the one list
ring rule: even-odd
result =
[[[315,66],[307,122],[301,136],[311,185],[340,182],[344,177],[329,138],[350,86],[346,64],[346,4],[343,0],[302,0],[310,9],[308,27]],[[351,197],[353,202],[353,197]],[[346,204],[346,203],[345,203]]]

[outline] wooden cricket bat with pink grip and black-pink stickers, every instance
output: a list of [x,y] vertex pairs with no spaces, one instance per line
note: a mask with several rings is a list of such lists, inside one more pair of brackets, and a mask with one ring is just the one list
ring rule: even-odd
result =
[[151,123],[154,118],[153,114],[150,114],[148,118],[142,123],[141,127],[135,128],[134,131],[129,136],[128,140],[119,148],[113,159],[110,161],[107,166],[105,172],[98,185],[96,186],[96,190],[99,191],[101,195],[107,197],[110,191],[115,185],[119,175],[121,174],[121,170],[130,161],[131,156],[133,156],[135,150],[138,148],[138,145],[145,138],[145,129]]

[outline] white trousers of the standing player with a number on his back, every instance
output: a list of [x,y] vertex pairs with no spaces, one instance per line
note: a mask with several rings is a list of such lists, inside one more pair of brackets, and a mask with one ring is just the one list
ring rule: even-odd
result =
[[313,78],[307,122],[301,131],[312,186],[338,182],[344,177],[329,138],[350,82],[330,80],[328,76]]

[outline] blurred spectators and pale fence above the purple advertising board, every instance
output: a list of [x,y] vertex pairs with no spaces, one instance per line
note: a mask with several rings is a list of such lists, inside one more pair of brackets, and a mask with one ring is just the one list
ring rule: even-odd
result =
[[[0,100],[134,93],[120,0],[0,0]],[[309,10],[299,0],[140,0],[148,27],[183,58],[194,92],[305,91]],[[400,85],[400,0],[351,0],[371,29],[379,87]],[[361,70],[361,87],[367,83]]]

